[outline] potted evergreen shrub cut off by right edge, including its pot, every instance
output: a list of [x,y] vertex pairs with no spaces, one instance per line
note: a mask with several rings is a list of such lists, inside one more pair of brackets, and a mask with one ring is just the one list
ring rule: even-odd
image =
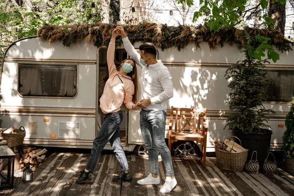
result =
[[285,120],[286,130],[283,135],[284,161],[286,172],[294,175],[294,96],[292,97],[292,105],[290,112]]

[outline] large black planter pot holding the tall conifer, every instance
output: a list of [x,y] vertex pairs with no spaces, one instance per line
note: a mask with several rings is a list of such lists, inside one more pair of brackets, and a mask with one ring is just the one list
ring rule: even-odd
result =
[[253,151],[257,151],[257,160],[260,168],[263,168],[265,159],[267,159],[268,153],[270,152],[270,138],[272,134],[271,130],[264,130],[266,131],[266,133],[249,133],[231,130],[232,135],[241,140],[242,147],[248,149],[247,160],[251,159]]

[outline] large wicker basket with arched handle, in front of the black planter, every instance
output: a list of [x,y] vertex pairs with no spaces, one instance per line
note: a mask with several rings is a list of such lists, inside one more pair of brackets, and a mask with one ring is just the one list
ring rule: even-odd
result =
[[[229,139],[233,140],[233,137],[235,136],[231,136],[229,137]],[[237,139],[240,141],[239,138]],[[223,141],[222,141],[222,144],[223,144]],[[242,146],[241,141],[240,141],[240,145]],[[233,143],[233,146],[234,146],[234,143]],[[243,171],[246,160],[247,160],[247,155],[248,155],[248,149],[242,152],[228,152],[228,151],[216,148],[216,157],[217,157],[218,166],[225,170],[231,170],[236,172]]]

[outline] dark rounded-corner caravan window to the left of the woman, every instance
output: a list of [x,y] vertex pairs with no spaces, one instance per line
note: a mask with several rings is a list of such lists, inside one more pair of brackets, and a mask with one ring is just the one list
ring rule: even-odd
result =
[[22,96],[67,97],[76,95],[77,65],[19,64],[18,89]]

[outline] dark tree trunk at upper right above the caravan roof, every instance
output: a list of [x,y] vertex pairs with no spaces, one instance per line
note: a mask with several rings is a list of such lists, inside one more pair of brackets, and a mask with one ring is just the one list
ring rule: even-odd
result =
[[270,0],[269,14],[275,20],[274,29],[280,31],[284,35],[286,24],[286,4],[281,5],[277,2],[272,3]]

